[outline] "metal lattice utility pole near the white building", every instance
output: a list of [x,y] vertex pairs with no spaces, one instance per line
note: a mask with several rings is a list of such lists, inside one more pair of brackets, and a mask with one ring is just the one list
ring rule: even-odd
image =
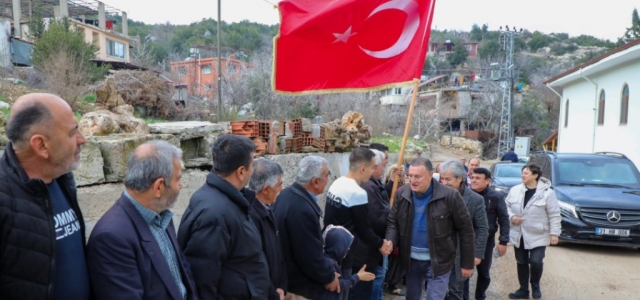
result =
[[513,82],[514,82],[514,46],[513,40],[522,36],[522,28],[518,32],[515,27],[509,30],[509,26],[503,30],[500,26],[500,50],[506,52],[504,64],[501,67],[502,85],[502,112],[500,114],[500,130],[498,140],[498,159],[513,146]]

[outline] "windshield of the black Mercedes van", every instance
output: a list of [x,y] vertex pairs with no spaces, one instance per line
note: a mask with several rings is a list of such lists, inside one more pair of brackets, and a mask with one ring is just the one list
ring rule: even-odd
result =
[[600,186],[640,186],[633,163],[621,159],[558,160],[558,183]]

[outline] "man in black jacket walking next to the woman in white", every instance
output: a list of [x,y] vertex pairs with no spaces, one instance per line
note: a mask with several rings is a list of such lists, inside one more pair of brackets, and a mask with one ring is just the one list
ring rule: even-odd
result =
[[[496,245],[496,232],[500,225],[499,244],[496,250],[503,256],[507,253],[509,242],[509,213],[504,202],[504,195],[494,190],[491,186],[491,171],[486,168],[476,168],[471,175],[471,189],[484,197],[487,221],[489,222],[489,238],[484,252],[484,259],[477,266],[478,281],[476,283],[476,300],[484,300],[486,291],[491,284],[491,263],[493,261],[493,247]],[[468,298],[467,298],[468,299]]]

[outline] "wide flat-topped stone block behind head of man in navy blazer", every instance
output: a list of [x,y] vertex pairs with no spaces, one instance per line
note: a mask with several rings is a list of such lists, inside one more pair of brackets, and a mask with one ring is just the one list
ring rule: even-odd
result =
[[139,145],[151,140],[163,140],[180,147],[180,140],[171,134],[113,134],[89,138],[98,144],[104,160],[105,182],[120,182],[127,170],[127,160]]

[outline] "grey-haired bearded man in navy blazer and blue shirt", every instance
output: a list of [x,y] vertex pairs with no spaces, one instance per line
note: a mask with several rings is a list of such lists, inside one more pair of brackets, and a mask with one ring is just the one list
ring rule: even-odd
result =
[[181,156],[175,146],[151,141],[129,158],[126,189],[87,246],[97,299],[197,299],[169,210],[182,188]]

